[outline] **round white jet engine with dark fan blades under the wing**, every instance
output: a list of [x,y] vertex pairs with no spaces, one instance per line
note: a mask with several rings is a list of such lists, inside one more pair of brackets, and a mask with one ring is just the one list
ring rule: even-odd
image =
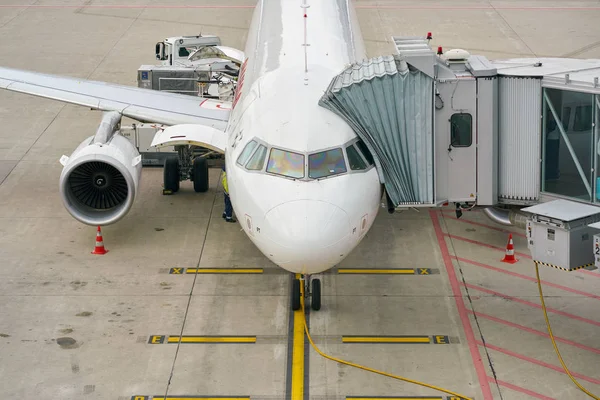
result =
[[87,225],[109,225],[131,209],[142,173],[142,157],[117,134],[121,116],[104,114],[96,135],[62,156],[60,194],[67,211]]

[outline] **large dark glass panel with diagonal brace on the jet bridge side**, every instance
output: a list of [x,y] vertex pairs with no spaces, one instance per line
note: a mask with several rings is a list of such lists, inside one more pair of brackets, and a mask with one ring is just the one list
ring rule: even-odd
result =
[[[555,111],[561,112],[558,117],[573,152],[575,160],[560,133],[558,121],[555,120],[550,107],[546,107],[546,143],[544,160],[544,190],[563,196],[591,201],[586,185],[581,178],[577,163],[583,170],[585,181],[592,185],[592,157],[595,149],[593,143],[592,104],[593,95],[560,89],[545,89]],[[571,120],[573,122],[571,122]]]

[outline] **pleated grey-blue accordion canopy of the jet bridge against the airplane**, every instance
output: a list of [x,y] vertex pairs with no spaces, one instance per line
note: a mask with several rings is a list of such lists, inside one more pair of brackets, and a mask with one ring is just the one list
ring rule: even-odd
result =
[[354,63],[319,105],[365,142],[395,206],[434,203],[433,78],[400,55]]

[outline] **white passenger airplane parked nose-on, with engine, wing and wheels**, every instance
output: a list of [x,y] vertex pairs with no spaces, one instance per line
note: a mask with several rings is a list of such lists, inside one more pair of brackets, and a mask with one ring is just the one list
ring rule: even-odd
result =
[[[271,261],[303,276],[312,308],[320,309],[321,283],[311,275],[359,244],[379,210],[382,185],[364,143],[318,105],[336,75],[366,59],[351,0],[304,1],[258,2],[232,104],[0,68],[1,88],[105,111],[96,135],[61,158],[60,191],[71,215],[106,225],[131,208],[141,156],[118,134],[122,116],[169,125],[153,145],[224,153],[244,231]],[[193,170],[196,180],[207,179],[205,167],[194,162]],[[301,281],[293,282],[296,310]]]

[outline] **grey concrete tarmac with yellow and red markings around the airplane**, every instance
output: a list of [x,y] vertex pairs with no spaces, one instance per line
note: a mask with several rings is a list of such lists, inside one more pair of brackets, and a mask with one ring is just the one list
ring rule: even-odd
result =
[[[0,0],[0,65],[136,86],[157,41],[243,49],[251,1]],[[598,1],[359,1],[369,56],[392,35],[488,58],[600,58]],[[61,155],[100,114],[0,92],[0,396],[6,399],[449,399],[322,358],[290,308],[292,277],[207,193],[162,195],[144,168],[131,212],[96,229],[63,208]],[[502,263],[512,232],[518,262]],[[307,315],[327,354],[485,400],[587,399],[548,338],[524,232],[480,212],[380,211],[324,274]],[[382,271],[383,270],[383,271]],[[378,272],[378,273],[375,273]],[[386,272],[386,273],[384,273]],[[566,364],[600,394],[600,273],[541,267]],[[596,336],[599,335],[599,336]]]

